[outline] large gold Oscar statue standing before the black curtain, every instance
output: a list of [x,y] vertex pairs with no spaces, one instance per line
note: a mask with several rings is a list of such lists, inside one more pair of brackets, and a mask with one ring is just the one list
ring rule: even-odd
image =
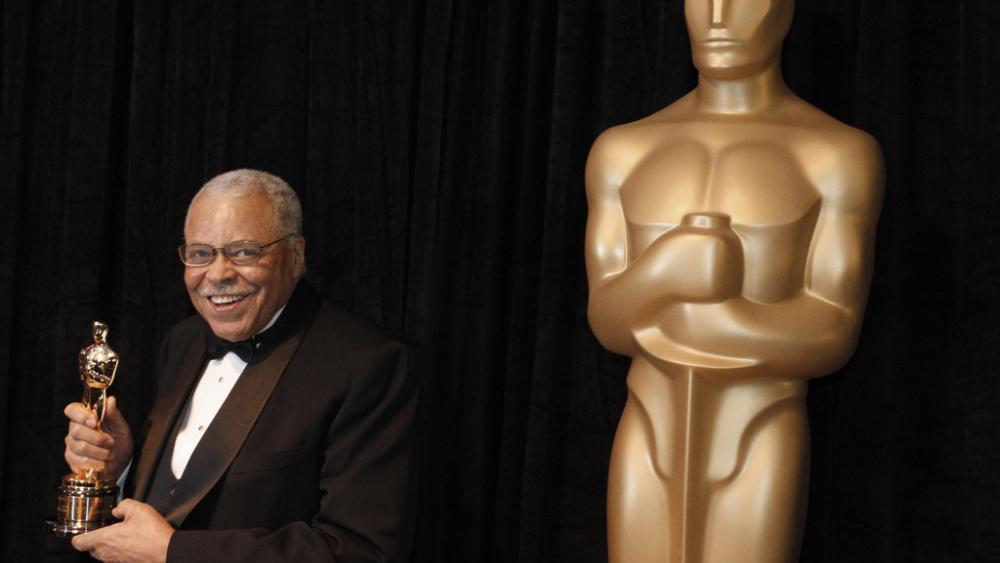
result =
[[633,358],[613,563],[798,558],[807,380],[854,352],[883,166],[782,80],[793,4],[686,0],[698,86],[590,153],[590,323]]

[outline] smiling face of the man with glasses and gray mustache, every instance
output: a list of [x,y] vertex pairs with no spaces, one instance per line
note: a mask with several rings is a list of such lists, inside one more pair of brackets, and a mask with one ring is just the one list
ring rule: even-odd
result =
[[[279,232],[270,200],[261,194],[239,199],[203,196],[191,207],[184,226],[188,243],[215,248],[240,240],[267,244],[288,233]],[[253,264],[238,266],[219,253],[211,264],[185,266],[184,285],[191,303],[220,338],[245,340],[261,331],[292,295],[305,269],[302,237],[263,250]]]

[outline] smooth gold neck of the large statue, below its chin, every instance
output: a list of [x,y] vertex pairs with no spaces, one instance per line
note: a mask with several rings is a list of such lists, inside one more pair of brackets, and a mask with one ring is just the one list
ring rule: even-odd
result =
[[747,77],[713,78],[699,73],[696,93],[700,111],[735,115],[767,111],[790,94],[781,77],[780,58]]

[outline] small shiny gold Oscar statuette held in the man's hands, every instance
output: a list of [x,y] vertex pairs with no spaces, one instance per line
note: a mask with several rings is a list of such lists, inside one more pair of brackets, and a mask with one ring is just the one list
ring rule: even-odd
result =
[[[118,371],[118,354],[108,346],[108,325],[94,321],[94,343],[80,350],[83,404],[104,421],[104,401]],[[111,510],[118,503],[118,485],[99,471],[86,469],[63,477],[59,487],[58,514],[49,521],[49,533],[69,537],[115,522]]]

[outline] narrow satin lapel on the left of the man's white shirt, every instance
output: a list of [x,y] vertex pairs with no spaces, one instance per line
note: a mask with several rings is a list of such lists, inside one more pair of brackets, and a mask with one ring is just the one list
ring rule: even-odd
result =
[[160,393],[156,407],[149,414],[149,432],[142,443],[139,463],[135,467],[135,499],[145,502],[149,486],[153,481],[153,473],[159,462],[160,454],[167,443],[171,430],[187,404],[191,387],[201,375],[205,366],[205,341],[198,338],[191,348],[176,375],[171,378],[171,385]]

